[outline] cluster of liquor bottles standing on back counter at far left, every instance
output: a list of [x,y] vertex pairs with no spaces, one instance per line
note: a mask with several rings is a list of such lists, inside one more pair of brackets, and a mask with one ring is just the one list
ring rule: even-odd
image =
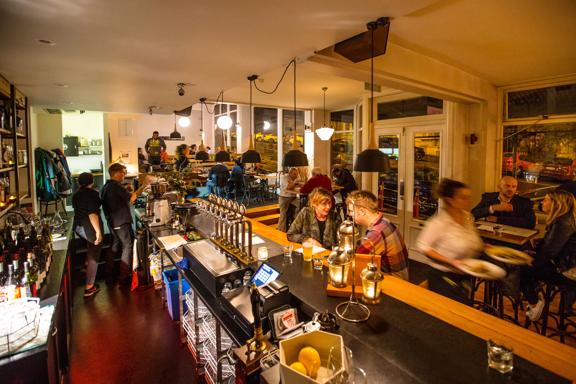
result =
[[53,254],[48,220],[7,221],[0,231],[0,302],[37,297]]

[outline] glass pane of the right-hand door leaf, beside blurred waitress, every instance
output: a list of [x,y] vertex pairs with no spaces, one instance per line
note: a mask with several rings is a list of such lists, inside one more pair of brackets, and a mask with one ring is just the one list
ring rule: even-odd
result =
[[412,217],[426,220],[438,209],[433,186],[440,176],[440,133],[414,135],[414,194]]

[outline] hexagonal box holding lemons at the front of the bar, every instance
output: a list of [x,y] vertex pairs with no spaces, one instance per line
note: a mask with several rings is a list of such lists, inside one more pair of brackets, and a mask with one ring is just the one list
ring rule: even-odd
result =
[[[320,369],[316,380],[290,368],[298,361],[298,353],[304,347],[313,347],[320,354]],[[333,349],[332,349],[333,347]],[[327,367],[332,349],[331,367]],[[280,377],[283,383],[312,384],[328,383],[346,371],[346,358],[342,336],[333,333],[314,331],[280,341]]]

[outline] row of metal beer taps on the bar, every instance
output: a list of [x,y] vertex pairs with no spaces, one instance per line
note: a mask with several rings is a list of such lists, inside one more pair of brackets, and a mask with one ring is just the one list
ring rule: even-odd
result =
[[207,200],[198,203],[198,208],[202,214],[214,220],[211,236],[214,243],[244,263],[254,261],[252,223],[244,217],[244,204],[210,194]]

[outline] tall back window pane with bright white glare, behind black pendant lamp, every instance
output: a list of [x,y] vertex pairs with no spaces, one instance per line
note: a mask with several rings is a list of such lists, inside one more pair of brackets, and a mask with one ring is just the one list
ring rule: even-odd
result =
[[264,169],[278,169],[278,110],[254,107],[254,144]]

